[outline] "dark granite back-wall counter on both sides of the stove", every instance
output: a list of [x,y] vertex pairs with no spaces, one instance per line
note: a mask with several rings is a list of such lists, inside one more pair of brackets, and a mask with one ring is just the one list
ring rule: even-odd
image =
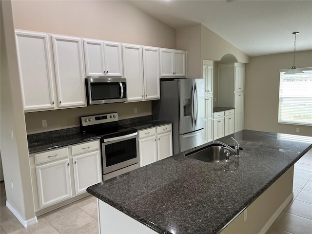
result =
[[[118,121],[119,125],[128,128],[135,128],[137,131],[170,123],[172,123],[172,121],[152,120],[151,116],[123,119]],[[28,135],[27,138],[28,153],[35,154],[46,150],[52,150],[90,140],[96,140],[100,137],[94,134],[83,135],[80,133],[80,127],[75,127],[39,134],[31,134]]]

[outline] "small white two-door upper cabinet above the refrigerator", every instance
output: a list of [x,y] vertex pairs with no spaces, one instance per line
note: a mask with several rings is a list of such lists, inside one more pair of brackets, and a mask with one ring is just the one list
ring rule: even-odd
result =
[[160,77],[185,77],[186,51],[160,49]]

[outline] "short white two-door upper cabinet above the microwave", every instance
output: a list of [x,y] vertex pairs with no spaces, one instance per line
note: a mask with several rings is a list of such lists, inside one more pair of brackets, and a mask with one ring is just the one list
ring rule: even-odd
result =
[[86,77],[122,77],[121,44],[84,39]]

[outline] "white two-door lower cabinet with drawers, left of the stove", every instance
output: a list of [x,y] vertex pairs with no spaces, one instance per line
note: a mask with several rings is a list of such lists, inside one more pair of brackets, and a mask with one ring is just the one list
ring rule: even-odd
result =
[[99,140],[32,154],[30,164],[36,211],[102,181]]

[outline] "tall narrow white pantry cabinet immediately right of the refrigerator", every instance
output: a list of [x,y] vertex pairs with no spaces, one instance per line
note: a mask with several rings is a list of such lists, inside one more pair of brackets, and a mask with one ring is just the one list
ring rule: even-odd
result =
[[205,142],[213,140],[213,61],[203,60],[205,79]]

